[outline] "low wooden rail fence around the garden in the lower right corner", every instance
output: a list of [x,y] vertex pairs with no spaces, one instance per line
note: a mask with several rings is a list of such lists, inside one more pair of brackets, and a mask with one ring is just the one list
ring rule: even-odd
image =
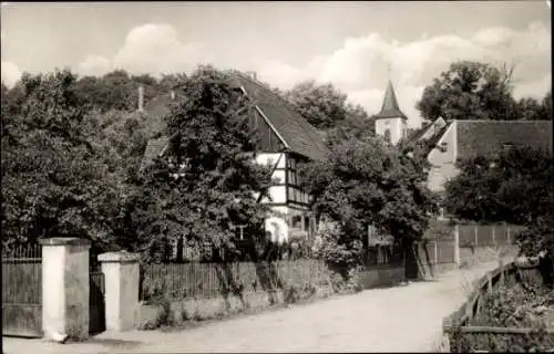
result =
[[[445,317],[442,323],[443,333],[449,337],[450,352],[465,352],[466,347],[462,345],[469,336],[504,336],[506,341],[513,341],[516,336],[527,336],[527,339],[533,339],[536,336],[541,340],[550,340],[554,348],[554,329],[546,329],[543,331],[537,331],[535,329],[516,329],[516,327],[494,327],[494,326],[472,326],[470,322],[478,315],[483,304],[484,295],[492,292],[492,290],[504,282],[509,277],[513,277],[516,272],[536,272],[537,266],[522,266],[511,262],[506,266],[499,267],[484,277],[482,277],[472,293],[469,295],[468,300],[453,312],[451,315]],[[484,341],[486,343],[488,341]],[[486,352],[486,348],[475,348],[472,351]]]

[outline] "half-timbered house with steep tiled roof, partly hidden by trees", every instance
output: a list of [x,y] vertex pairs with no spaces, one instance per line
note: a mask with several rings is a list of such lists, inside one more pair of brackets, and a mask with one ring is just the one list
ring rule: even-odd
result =
[[[271,178],[275,183],[269,189],[270,198],[261,197],[259,202],[270,207],[274,212],[271,217],[279,216],[285,219],[288,226],[287,235],[280,238],[288,239],[291,233],[310,235],[315,230],[316,220],[310,208],[310,197],[300,188],[297,165],[325,158],[327,146],[296,108],[266,84],[236,71],[229,73],[229,77],[232,87],[240,90],[255,105],[249,121],[259,137],[255,159],[273,169]],[[172,96],[175,100],[175,94]],[[171,101],[156,98],[152,106],[155,111],[151,113],[146,104],[146,114],[167,114],[166,106]],[[168,137],[164,136],[151,139],[141,169],[163,155],[168,143]]]

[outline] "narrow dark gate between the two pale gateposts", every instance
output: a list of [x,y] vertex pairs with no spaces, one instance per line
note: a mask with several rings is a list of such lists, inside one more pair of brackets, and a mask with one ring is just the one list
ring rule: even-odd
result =
[[104,273],[98,268],[91,269],[89,289],[89,333],[95,334],[105,331]]

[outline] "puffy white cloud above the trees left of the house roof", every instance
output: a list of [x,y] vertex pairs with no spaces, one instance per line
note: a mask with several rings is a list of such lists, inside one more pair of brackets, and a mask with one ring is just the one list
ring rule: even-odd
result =
[[101,75],[114,69],[133,74],[187,72],[213,58],[202,43],[183,43],[171,24],[147,23],[133,28],[113,59],[89,55],[78,65],[81,74]]

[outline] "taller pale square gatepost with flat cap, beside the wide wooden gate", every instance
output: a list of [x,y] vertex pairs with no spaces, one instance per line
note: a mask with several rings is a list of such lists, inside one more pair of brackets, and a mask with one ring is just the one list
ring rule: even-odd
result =
[[42,331],[47,340],[89,337],[89,249],[80,238],[41,239]]

